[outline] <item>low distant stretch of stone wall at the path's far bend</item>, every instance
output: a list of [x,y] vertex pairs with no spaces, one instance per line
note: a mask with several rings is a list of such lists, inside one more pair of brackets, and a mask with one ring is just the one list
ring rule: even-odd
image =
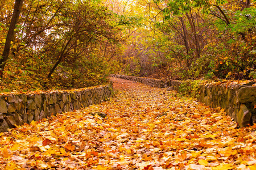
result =
[[167,87],[166,82],[160,79],[143,78],[143,77],[128,76],[128,75],[112,75],[112,76],[116,78],[121,78],[121,79],[126,79],[134,82],[147,84],[148,86],[151,86],[151,87],[158,87],[158,88]]

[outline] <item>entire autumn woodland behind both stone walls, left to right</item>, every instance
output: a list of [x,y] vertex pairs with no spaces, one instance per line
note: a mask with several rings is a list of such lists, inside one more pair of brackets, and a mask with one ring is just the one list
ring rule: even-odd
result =
[[255,7],[255,0],[2,1],[0,91],[97,86],[117,73],[255,79]]

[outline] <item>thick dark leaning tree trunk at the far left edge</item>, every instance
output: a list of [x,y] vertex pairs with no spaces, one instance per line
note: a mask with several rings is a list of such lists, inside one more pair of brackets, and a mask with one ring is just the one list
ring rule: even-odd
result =
[[10,48],[11,48],[11,40],[13,40],[14,37],[14,29],[15,25],[18,22],[20,10],[22,8],[23,0],[15,0],[14,5],[14,11],[13,11],[13,17],[11,18],[11,24],[9,27],[9,31],[7,33],[6,42],[5,42],[5,49],[3,49],[2,58],[0,60],[0,69],[3,71],[5,69],[5,64],[7,61],[7,58],[9,56]]

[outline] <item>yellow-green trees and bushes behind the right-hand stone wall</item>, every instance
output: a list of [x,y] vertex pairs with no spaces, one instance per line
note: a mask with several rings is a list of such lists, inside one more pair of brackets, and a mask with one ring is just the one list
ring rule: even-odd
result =
[[[255,79],[255,1],[149,1],[123,72],[168,79]],[[134,6],[134,8],[135,8]]]

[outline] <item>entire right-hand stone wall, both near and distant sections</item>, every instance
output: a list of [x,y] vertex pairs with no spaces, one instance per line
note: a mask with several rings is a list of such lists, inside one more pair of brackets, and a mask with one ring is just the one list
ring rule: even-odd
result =
[[[117,78],[133,80],[144,83],[152,87],[168,87],[169,90],[179,91],[182,81],[139,78],[126,75],[114,75]],[[206,84],[198,85],[199,88],[195,92],[197,99],[209,105],[212,108],[223,108],[225,112],[234,118],[241,127],[248,124],[256,124],[256,86],[252,86],[255,82],[247,84]]]

